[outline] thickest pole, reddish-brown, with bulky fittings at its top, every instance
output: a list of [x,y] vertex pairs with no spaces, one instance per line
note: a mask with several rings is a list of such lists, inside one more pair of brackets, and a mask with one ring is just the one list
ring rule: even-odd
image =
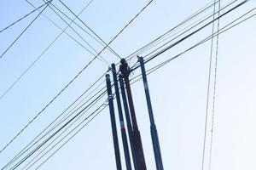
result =
[[146,167],[145,157],[143,153],[143,143],[142,143],[140,131],[137,127],[137,118],[135,115],[135,109],[134,109],[132,95],[131,95],[131,85],[129,81],[130,71],[128,70],[128,65],[125,59],[121,59],[120,71],[125,80],[125,88],[126,88],[128,103],[130,107],[131,121],[133,125],[132,127],[133,127],[134,147],[137,153],[137,168],[138,170],[146,170],[147,167]]

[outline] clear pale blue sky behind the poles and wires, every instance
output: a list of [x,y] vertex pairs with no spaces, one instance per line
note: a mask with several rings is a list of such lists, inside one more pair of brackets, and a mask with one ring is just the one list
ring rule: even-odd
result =
[[[63,2],[72,8],[74,13],[78,14],[89,1],[63,0]],[[111,47],[122,57],[126,57],[211,2],[203,0],[154,0],[111,44]],[[224,6],[229,2],[225,0],[221,1],[221,4]],[[239,2],[241,1],[237,1],[236,4]],[[31,0],[31,3],[38,7],[43,1]],[[53,3],[73,18],[73,15],[61,6],[61,3],[57,0],[54,0]],[[96,31],[105,42],[109,42],[147,3],[148,1],[137,0],[94,0],[80,15],[80,18],[92,30]],[[255,6],[255,1],[249,1],[241,8],[224,16],[220,20],[220,27],[225,26],[236,17],[246,13],[251,8],[255,8]],[[0,2],[0,29],[8,26],[32,9],[25,0],[2,0]],[[205,15],[211,14],[212,10],[208,10]],[[20,34],[36,14],[38,13],[32,14],[15,26],[0,33],[0,54],[8,48],[9,44],[15,40],[15,37]],[[47,8],[44,14],[54,20],[61,28],[66,27],[66,24],[50,8]],[[255,14],[255,11],[253,14]],[[100,51],[102,48],[100,45],[93,42],[77,26],[72,26],[97,51]],[[230,31],[224,32],[219,37],[212,170],[256,169],[254,160],[256,152],[254,132],[254,129],[256,129],[254,123],[256,120],[255,30],[256,20],[253,18]],[[23,71],[26,71],[26,68],[42,54],[60,32],[49,20],[40,15],[38,20],[20,37],[19,41],[0,59],[0,95],[20,77]],[[86,45],[71,29],[67,29],[67,32],[77,38],[84,46]],[[177,47],[152,60],[146,65],[146,68],[175,56],[211,33],[212,26],[208,26]],[[148,76],[154,117],[166,170],[201,169],[210,49],[211,42],[209,41],[181,55],[178,59]],[[144,54],[141,54],[141,56],[144,56]],[[119,59],[108,51],[102,53],[102,57],[108,60],[109,63],[119,62]],[[27,71],[26,75],[15,84],[9,93],[3,99],[0,99],[0,149],[32,117],[36,116],[38,111],[41,111],[44,105],[47,105],[50,99],[58,94],[92,58],[93,56],[84,48],[81,48],[78,43],[63,34],[42,58]],[[136,60],[134,59],[131,64],[134,64]],[[108,66],[96,59],[49,108],[38,116],[38,119],[31,126],[26,128],[0,154],[0,167],[3,167],[107,70]],[[135,71],[131,77],[139,72]],[[209,127],[211,126],[210,122],[212,122],[213,79],[211,81]],[[102,84],[103,86],[104,84]],[[155,169],[143,82],[135,83],[132,90],[147,167],[148,170]],[[86,114],[96,109],[106,99],[107,96]],[[119,127],[118,121],[117,125]],[[208,128],[205,169],[209,169],[210,135],[210,128]],[[125,167],[120,133],[119,146],[122,164]],[[23,164],[23,166],[25,165],[26,163]],[[39,163],[32,169],[35,169],[37,165]],[[21,167],[18,169],[21,169]],[[102,111],[99,116],[96,116],[88,126],[84,127],[78,135],[49,159],[41,169],[115,169],[108,108]]]

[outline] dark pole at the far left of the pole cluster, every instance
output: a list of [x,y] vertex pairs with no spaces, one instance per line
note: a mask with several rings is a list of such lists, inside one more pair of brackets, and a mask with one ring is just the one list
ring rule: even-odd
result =
[[119,139],[118,139],[117,130],[116,130],[116,123],[115,123],[114,109],[113,109],[113,94],[112,94],[109,74],[106,75],[106,83],[107,83],[107,91],[108,91],[108,105],[109,105],[110,120],[111,120],[112,134],[113,134],[113,148],[114,148],[116,167],[117,167],[117,170],[121,170],[122,166],[121,166],[121,159],[120,159],[120,152],[119,152]]

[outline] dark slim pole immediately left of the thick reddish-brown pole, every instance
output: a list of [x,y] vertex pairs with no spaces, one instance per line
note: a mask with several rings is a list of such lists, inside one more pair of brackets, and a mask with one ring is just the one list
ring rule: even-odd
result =
[[127,102],[126,94],[125,94],[124,80],[123,80],[123,77],[121,75],[119,75],[119,84],[120,84],[120,89],[121,89],[121,94],[122,94],[122,99],[123,99],[123,104],[124,104],[124,109],[125,109],[125,118],[126,118],[127,128],[128,128],[128,136],[129,136],[129,139],[130,139],[131,155],[132,155],[133,165],[134,165],[134,169],[138,170],[138,168],[137,168],[137,158],[136,158],[137,154],[136,154],[136,150],[135,150],[135,146],[134,146],[134,138],[133,138],[132,126],[131,126],[131,117],[130,117],[128,102]]

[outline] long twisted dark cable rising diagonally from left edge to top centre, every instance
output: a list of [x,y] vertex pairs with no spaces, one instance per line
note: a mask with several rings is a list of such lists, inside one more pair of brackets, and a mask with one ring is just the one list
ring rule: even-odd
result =
[[[45,105],[44,108],[43,108],[41,111],[38,112],[38,114],[37,114],[36,116],[34,116],[34,117],[32,118],[32,120],[31,120],[30,122],[28,122],[28,123],[26,124],[26,126],[23,127],[23,128],[20,130],[20,132],[17,133],[17,134],[15,135],[15,137],[9,141],[8,144],[6,144],[6,145],[3,147],[3,149],[0,151],[0,153],[3,152],[3,150],[5,150],[5,149],[9,146],[9,144],[11,144],[11,143],[20,135],[20,133],[22,133],[32,122],[34,122],[34,121],[38,118],[38,116],[40,116],[40,115],[45,111],[45,109],[47,109],[47,108],[49,107],[49,105],[51,105],[51,104],[55,101],[55,99],[57,99],[57,98],[62,94],[62,92],[65,91],[65,90],[73,83],[73,81],[74,81],[75,79],[77,79],[77,78],[82,74],[82,72],[84,72],[84,71],[86,70],[86,68],[98,57],[98,55],[102,54],[102,52],[103,52],[106,48],[108,48],[108,46],[109,46],[117,37],[119,37],[119,35],[125,30],[125,28],[127,28],[127,26],[131,25],[132,21],[135,20],[135,19],[137,19],[138,15],[141,14],[141,13],[143,12],[143,10],[144,10],[145,8],[147,8],[148,5],[149,5],[150,3],[152,3],[152,2],[153,2],[153,0],[151,0],[148,4],[146,4],[146,6],[144,6],[144,7],[142,8],[142,10],[140,10],[140,11],[128,22],[128,24],[126,24],[126,25],[124,26],[124,28],[122,28],[122,29],[118,32],[118,34],[117,34],[116,36],[114,36],[113,39],[112,39],[110,42],[108,42],[108,44],[107,44],[104,48],[102,48],[102,50],[101,50],[100,52],[99,52],[93,59],[91,59],[90,62],[89,62],[87,65],[85,65],[84,68],[83,68],[81,71],[79,71],[79,73],[78,73],[75,77],[73,77],[73,79],[72,79],[70,82],[68,82],[67,85],[66,85],[64,88],[62,88],[61,91],[60,91],[58,94],[56,94],[55,97],[54,97],[53,99],[51,99],[51,100],[49,101],[49,103],[48,103],[47,105]],[[41,12],[41,13],[42,13],[42,12]],[[40,14],[41,14],[41,13],[40,13]]]

